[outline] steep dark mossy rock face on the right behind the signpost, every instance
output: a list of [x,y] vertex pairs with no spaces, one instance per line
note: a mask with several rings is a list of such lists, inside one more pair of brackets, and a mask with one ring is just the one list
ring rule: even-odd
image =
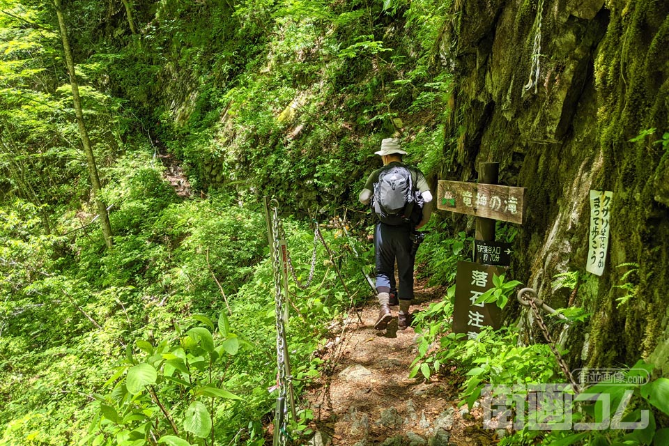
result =
[[[455,73],[444,148],[454,163],[441,178],[475,180],[479,162],[498,161],[501,184],[527,187],[514,278],[557,308],[571,291],[554,290],[554,276],[579,272],[574,305],[592,316],[567,337],[574,368],[650,357],[669,374],[661,353],[669,342],[669,155],[655,144],[669,131],[669,3],[473,0],[453,8],[441,55]],[[601,277],[585,272],[589,190],[613,191]],[[617,307],[624,292],[613,286],[629,268],[622,263],[639,268],[626,277],[635,297]]]

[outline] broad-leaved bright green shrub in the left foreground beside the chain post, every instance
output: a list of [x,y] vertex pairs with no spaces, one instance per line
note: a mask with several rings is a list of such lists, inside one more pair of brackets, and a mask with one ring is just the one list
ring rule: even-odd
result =
[[110,392],[98,397],[99,413],[84,440],[94,446],[214,443],[222,404],[242,399],[224,386],[226,364],[251,345],[233,332],[224,313],[217,326],[203,315],[184,327],[176,323],[175,335],[128,346],[103,386]]

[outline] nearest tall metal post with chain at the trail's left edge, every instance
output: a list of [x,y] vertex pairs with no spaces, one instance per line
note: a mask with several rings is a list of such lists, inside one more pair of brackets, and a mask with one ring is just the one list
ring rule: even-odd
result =
[[[279,210],[278,204],[272,200],[272,216],[270,217],[270,204],[267,197],[264,197],[265,217],[267,222],[267,236],[270,245],[270,254],[272,257],[272,270],[274,272],[275,284],[275,315],[277,329],[277,387],[279,396],[277,397],[277,406],[274,418],[274,439],[273,446],[283,446],[286,444],[286,394],[289,397],[289,406],[291,406],[291,415],[293,420],[295,415],[295,399],[293,395],[293,383],[291,376],[290,361],[288,355],[288,345],[286,343],[286,332],[284,319],[287,318],[286,294],[282,289],[282,282],[287,288],[286,267],[282,261],[284,252],[282,244],[277,238],[279,234]],[[284,243],[285,246],[285,243]],[[282,276],[283,275],[283,280]]]

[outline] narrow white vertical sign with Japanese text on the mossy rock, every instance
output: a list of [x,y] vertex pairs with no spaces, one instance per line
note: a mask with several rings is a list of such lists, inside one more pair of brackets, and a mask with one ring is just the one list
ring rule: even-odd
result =
[[585,270],[601,276],[608,251],[610,229],[610,208],[613,192],[608,190],[590,191],[590,232],[588,233],[587,266]]

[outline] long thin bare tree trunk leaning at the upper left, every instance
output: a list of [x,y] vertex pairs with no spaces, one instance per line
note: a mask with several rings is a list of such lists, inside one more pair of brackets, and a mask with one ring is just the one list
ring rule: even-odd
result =
[[91,147],[91,140],[89,134],[86,132],[86,125],[84,125],[84,112],[82,111],[82,100],[79,97],[79,84],[77,84],[77,75],[75,73],[75,62],[72,59],[72,49],[70,49],[70,42],[68,40],[68,28],[63,18],[63,11],[61,10],[61,0],[54,0],[56,6],[56,15],[58,16],[58,24],[61,28],[61,38],[63,38],[63,49],[65,50],[65,60],[68,65],[68,72],[70,72],[70,85],[72,86],[72,101],[75,105],[75,115],[77,116],[77,123],[79,124],[79,134],[82,137],[82,145],[86,153],[86,162],[89,165],[89,176],[91,178],[91,189],[93,190],[93,200],[98,205],[98,213],[100,214],[100,224],[102,225],[102,234],[105,236],[105,244],[107,247],[112,247],[112,225],[109,224],[109,215],[107,214],[107,205],[100,199],[100,176],[98,176],[98,167],[95,165],[95,157],[93,156],[93,148]]

